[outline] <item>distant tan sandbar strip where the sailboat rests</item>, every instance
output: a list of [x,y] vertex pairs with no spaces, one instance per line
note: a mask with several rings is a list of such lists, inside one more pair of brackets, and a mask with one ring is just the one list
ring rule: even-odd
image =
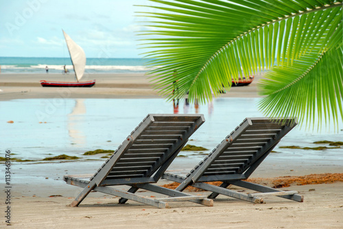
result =
[[[259,98],[256,75],[248,86],[232,87],[221,98]],[[84,81],[96,79],[94,87],[42,87],[40,80],[74,81],[73,75],[0,74],[0,100],[25,98],[163,98],[144,74],[88,74]]]

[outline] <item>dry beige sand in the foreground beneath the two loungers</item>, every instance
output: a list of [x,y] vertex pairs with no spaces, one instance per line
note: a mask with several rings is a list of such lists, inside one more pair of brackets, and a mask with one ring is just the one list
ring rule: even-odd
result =
[[13,200],[11,228],[343,228],[343,183],[292,189],[305,202],[273,197],[251,204],[219,196],[212,207],[178,202],[160,209],[137,202],[119,205],[118,198],[103,196],[72,208],[65,196],[19,197]]

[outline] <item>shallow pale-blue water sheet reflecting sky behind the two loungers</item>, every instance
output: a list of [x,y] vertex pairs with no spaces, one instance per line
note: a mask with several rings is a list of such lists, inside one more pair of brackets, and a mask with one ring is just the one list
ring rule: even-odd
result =
[[[213,103],[186,105],[180,101],[178,113],[202,113],[205,122],[191,136],[192,142],[212,150],[246,117],[263,117],[257,98],[217,98]],[[174,113],[172,103],[156,99],[25,99],[0,102],[0,137],[3,148],[20,159],[42,160],[49,155],[69,154],[82,159],[88,150],[115,150],[148,113]],[[24,115],[25,114],[25,115]],[[13,120],[14,123],[7,123]],[[304,162],[335,161],[343,166],[343,148],[327,150],[279,149],[279,146],[316,147],[313,142],[342,141],[339,131],[321,133],[296,126],[275,148],[274,158]],[[327,146],[327,145],[324,145]],[[206,153],[206,152],[204,152]],[[181,152],[195,161],[203,157]],[[95,158],[99,157],[95,156]],[[331,163],[330,162],[330,163]]]

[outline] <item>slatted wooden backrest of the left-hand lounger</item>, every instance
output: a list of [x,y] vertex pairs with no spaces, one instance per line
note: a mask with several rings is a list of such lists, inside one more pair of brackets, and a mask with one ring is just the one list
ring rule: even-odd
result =
[[150,178],[203,122],[202,115],[148,115],[91,180],[121,185]]

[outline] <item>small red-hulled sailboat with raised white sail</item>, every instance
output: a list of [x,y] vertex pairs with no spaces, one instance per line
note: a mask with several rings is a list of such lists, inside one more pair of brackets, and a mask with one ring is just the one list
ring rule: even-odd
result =
[[84,76],[84,68],[86,67],[86,55],[84,54],[84,50],[73,40],[71,40],[67,33],[63,31],[63,34],[69,50],[71,63],[73,63],[76,82],[41,80],[40,84],[43,87],[93,87],[93,85],[95,85],[95,79],[93,81],[80,81]]

